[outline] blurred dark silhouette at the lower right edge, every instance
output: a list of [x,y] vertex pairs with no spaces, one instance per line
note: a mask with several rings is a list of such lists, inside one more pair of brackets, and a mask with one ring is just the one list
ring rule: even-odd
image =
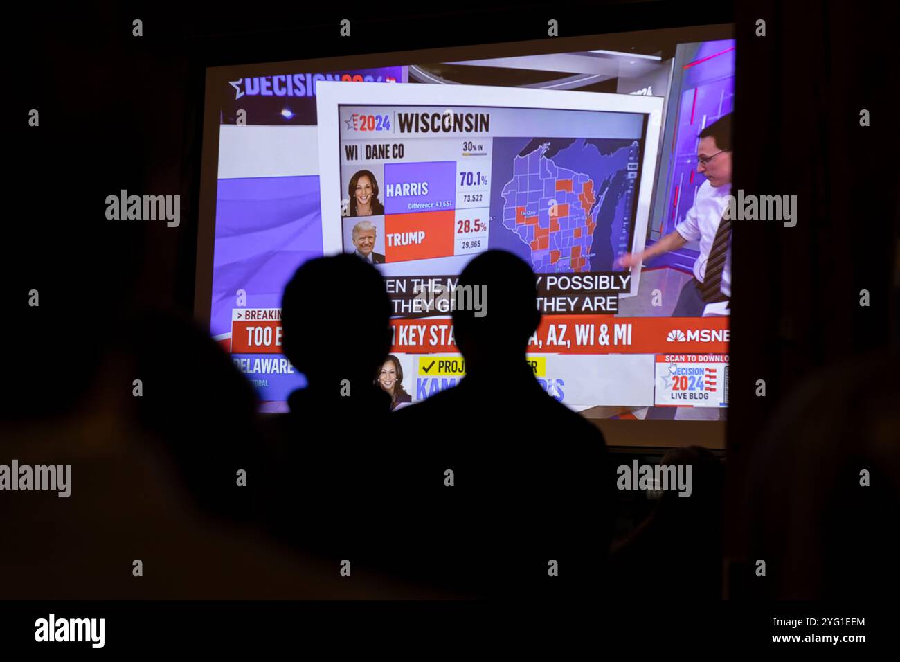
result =
[[761,434],[743,495],[751,554],[775,600],[894,600],[900,590],[900,360],[885,351],[810,376]]

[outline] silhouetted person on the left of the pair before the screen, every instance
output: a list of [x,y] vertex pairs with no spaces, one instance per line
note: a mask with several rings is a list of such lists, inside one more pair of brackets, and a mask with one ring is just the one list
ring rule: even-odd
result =
[[391,346],[383,279],[354,256],[313,259],[282,307],[284,354],[309,384],[267,422],[260,517],[292,547],[348,561],[351,576],[402,576],[390,550],[406,522],[388,504],[404,458],[391,395],[374,382]]

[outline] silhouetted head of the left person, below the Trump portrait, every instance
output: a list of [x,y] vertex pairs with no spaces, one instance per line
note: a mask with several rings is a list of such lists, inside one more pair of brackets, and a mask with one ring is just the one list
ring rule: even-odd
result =
[[311,388],[344,379],[371,386],[391,349],[390,320],[374,267],[348,254],[311,259],[284,288],[284,356]]

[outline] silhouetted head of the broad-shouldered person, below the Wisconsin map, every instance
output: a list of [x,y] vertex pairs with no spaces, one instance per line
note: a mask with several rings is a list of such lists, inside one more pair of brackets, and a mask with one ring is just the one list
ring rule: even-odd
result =
[[[484,365],[524,364],[528,339],[541,321],[531,268],[505,250],[488,250],[466,265],[457,290],[471,292],[467,297],[455,295],[453,313],[456,346],[467,371]],[[463,301],[469,305],[461,308]]]

